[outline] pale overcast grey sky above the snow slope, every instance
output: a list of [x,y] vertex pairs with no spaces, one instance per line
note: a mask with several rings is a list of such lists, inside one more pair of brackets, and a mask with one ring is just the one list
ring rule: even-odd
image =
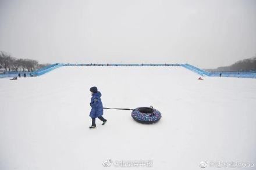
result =
[[226,66],[256,53],[256,1],[0,0],[0,50],[41,63]]

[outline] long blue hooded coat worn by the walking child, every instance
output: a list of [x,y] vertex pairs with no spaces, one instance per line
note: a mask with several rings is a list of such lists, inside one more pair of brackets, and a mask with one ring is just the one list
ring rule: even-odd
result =
[[93,93],[91,97],[91,118],[97,118],[103,115],[103,106],[101,103],[101,92]]

